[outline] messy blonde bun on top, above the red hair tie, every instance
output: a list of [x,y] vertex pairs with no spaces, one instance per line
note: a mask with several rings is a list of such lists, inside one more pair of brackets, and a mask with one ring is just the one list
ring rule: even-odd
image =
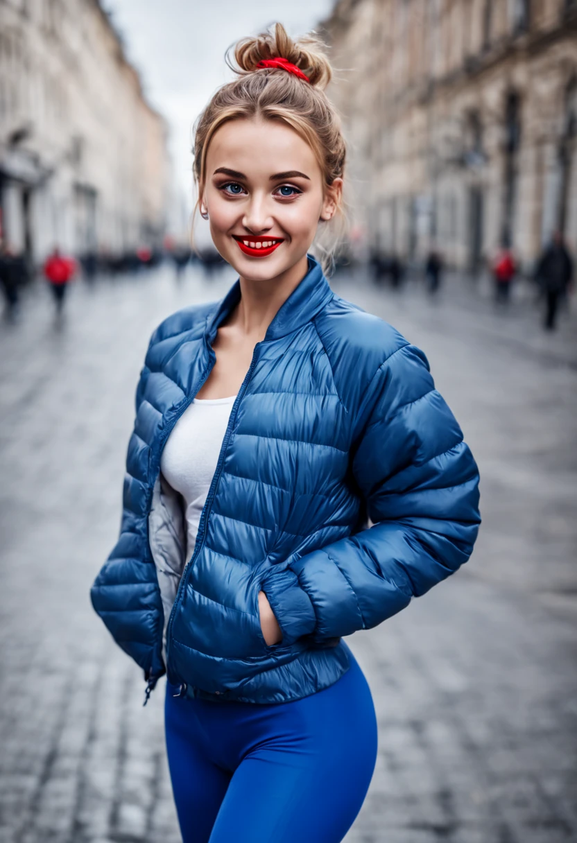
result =
[[324,90],[332,78],[331,64],[324,52],[322,41],[315,35],[304,35],[293,40],[283,24],[274,24],[269,32],[256,38],[243,38],[235,45],[235,65],[229,67],[237,73],[251,73],[258,63],[271,58],[285,58],[299,67],[315,88]]

